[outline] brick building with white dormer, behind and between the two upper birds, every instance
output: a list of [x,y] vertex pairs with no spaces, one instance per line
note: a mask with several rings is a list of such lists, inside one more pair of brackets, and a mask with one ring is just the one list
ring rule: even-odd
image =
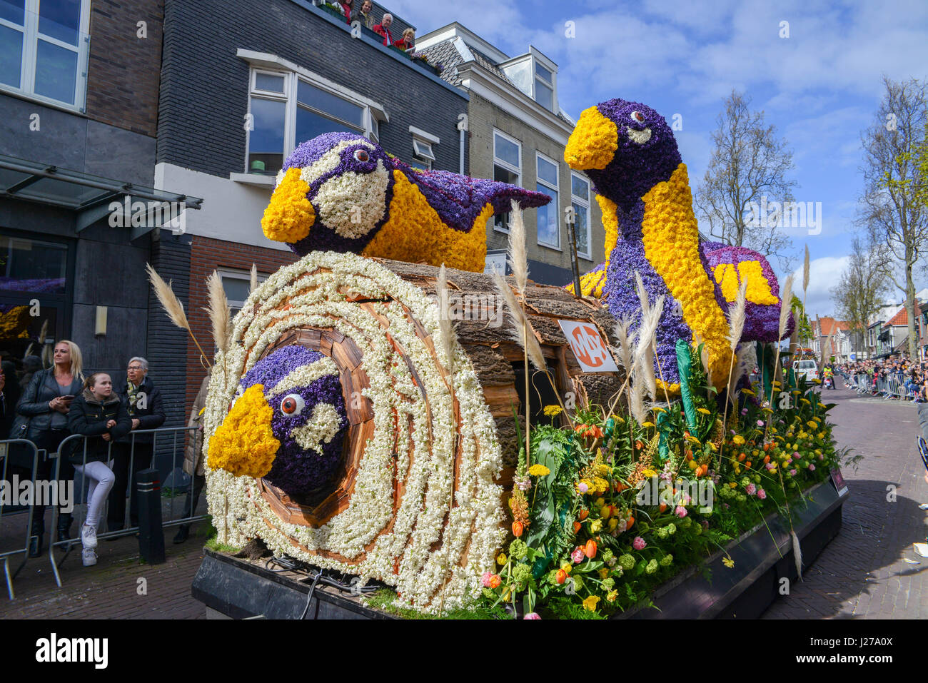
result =
[[[530,277],[551,285],[572,281],[564,223],[570,206],[576,213],[580,273],[599,264],[605,249],[599,204],[586,174],[564,162],[574,121],[558,104],[558,65],[534,46],[509,58],[457,22],[420,37],[416,46],[445,66],[442,77],[448,83],[470,93],[470,175],[552,198],[547,206],[524,213]],[[506,249],[508,225],[508,215],[487,224],[487,250]]]

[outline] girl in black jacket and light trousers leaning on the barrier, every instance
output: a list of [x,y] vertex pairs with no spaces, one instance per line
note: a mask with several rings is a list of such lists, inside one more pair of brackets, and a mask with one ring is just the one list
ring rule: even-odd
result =
[[81,529],[84,567],[89,567],[97,564],[97,552],[94,550],[97,548],[97,524],[115,481],[110,470],[110,444],[132,429],[132,420],[119,394],[113,393],[110,375],[97,372],[87,378],[84,392],[71,403],[68,427],[75,434],[99,437],[87,439],[86,445],[76,449],[71,456],[74,470],[84,474],[89,482],[87,517]]

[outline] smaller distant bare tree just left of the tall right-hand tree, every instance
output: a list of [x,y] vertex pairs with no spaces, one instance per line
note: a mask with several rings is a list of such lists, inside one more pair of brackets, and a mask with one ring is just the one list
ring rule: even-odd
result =
[[831,288],[835,315],[847,321],[859,349],[870,325],[870,316],[880,310],[889,293],[889,252],[878,244],[867,244],[859,237],[851,242],[850,261]]

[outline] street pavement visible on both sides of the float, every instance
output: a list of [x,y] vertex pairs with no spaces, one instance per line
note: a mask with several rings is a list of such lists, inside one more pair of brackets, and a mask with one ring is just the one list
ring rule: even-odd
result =
[[[841,533],[804,569],[805,580],[794,582],[790,594],[762,618],[928,616],[928,559],[912,551],[913,542],[925,540],[928,515],[918,507],[928,502],[928,484],[914,441],[916,406],[861,397],[846,389],[824,394],[838,404],[831,422],[837,424],[839,445],[849,445],[863,457],[857,470],[843,470],[851,496],[844,504]],[[24,524],[24,515],[19,518]],[[4,521],[5,532],[11,519]],[[166,529],[167,557],[158,565],[139,561],[132,536],[101,542],[95,567],[84,568],[79,550],[71,552],[61,569],[61,588],[55,585],[46,552],[19,574],[15,600],[6,598],[2,586],[0,619],[204,618],[205,608],[190,596],[190,585],[200,566],[205,534],[206,525],[200,522],[187,543],[174,546],[174,528]]]

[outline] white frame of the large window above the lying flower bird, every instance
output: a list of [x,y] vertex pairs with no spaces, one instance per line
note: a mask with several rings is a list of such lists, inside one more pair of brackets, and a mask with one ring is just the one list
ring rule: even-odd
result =
[[[240,56],[240,55],[239,55]],[[283,62],[284,60],[280,60]],[[285,62],[284,62],[285,63]],[[286,63],[285,63],[286,64]],[[283,76],[284,77],[284,93],[274,93],[268,92],[266,90],[258,90],[255,86],[256,83],[256,74],[258,72],[266,73],[268,75],[274,76]],[[360,107],[363,111],[362,119],[364,121],[364,127],[358,126],[354,122],[344,121],[337,116],[333,116],[329,112],[316,110],[313,107],[307,107],[305,104],[299,105],[297,103],[297,91],[299,88],[299,82],[304,81],[306,84],[312,85],[313,87],[318,88],[328,92],[330,95],[335,97],[341,97],[352,104]],[[303,142],[303,140],[296,139],[296,116],[297,110],[302,106],[304,109],[318,113],[319,116],[322,116],[332,121],[341,123],[344,126],[352,128],[357,131],[358,135],[363,135],[367,137],[368,140],[373,142],[379,142],[380,138],[380,123],[387,122],[385,117],[381,118],[375,115],[375,110],[383,111],[383,108],[373,102],[372,100],[367,99],[358,93],[355,93],[353,90],[349,90],[346,87],[343,87],[340,84],[335,84],[329,81],[326,78],[316,74],[313,71],[307,71],[300,69],[300,71],[290,71],[285,69],[274,69],[268,66],[252,66],[251,72],[249,73],[249,90],[248,90],[248,113],[251,115],[251,100],[252,98],[259,99],[272,99],[278,102],[285,102],[286,108],[284,113],[284,148],[283,155],[286,160],[287,157],[293,152],[298,143]],[[251,173],[248,168],[248,156],[249,150],[251,149],[251,130],[246,130],[245,135],[245,174]]]

